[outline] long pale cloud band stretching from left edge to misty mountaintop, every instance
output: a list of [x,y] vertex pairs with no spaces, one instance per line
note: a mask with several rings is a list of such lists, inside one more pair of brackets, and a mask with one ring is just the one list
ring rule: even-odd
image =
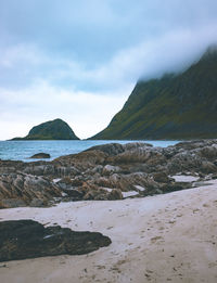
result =
[[158,77],[165,72],[183,69],[199,59],[216,38],[217,23],[201,29],[179,29],[124,48],[110,61],[92,68],[80,60],[53,60],[34,46],[16,46],[4,53],[2,51],[0,81],[4,80],[10,88],[16,82],[26,87],[43,79],[64,89],[101,90],[103,94],[110,90],[110,93],[115,93],[123,86],[136,83],[140,77]]

